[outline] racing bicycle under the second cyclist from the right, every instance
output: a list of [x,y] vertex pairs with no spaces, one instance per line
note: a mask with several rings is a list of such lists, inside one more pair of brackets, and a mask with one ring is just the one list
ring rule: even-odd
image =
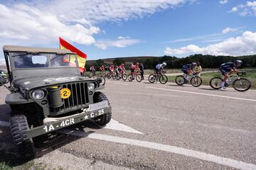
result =
[[186,79],[184,77],[185,74],[179,75],[175,78],[176,84],[178,86],[182,86],[183,84],[188,84],[190,83],[192,86],[198,87],[201,86],[202,84],[202,79],[201,77],[198,76],[198,74],[194,73],[192,76],[188,75],[188,78]]

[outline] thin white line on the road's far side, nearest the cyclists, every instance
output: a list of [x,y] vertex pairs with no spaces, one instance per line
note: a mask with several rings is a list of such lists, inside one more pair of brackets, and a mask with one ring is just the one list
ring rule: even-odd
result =
[[233,98],[233,99],[237,99],[237,100],[241,100],[241,101],[256,101],[255,99],[249,99],[249,98],[237,98],[237,97],[230,97],[230,96],[220,96],[220,95],[215,95],[215,94],[203,94],[203,93],[192,92],[192,91],[163,89],[163,88],[157,88],[157,87],[151,87],[151,86],[146,86],[146,88],[157,89],[157,90],[165,90],[165,91],[176,91],[176,92],[181,92],[181,93],[186,93],[186,94],[199,94],[199,95],[203,95],[203,96],[214,96],[214,97],[220,97],[220,98]]

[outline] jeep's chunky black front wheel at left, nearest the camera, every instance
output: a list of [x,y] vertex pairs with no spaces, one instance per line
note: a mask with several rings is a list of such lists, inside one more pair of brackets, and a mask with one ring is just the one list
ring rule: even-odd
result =
[[18,150],[18,154],[23,159],[32,159],[35,157],[35,148],[32,139],[26,135],[28,121],[25,115],[11,115],[11,135],[14,144]]

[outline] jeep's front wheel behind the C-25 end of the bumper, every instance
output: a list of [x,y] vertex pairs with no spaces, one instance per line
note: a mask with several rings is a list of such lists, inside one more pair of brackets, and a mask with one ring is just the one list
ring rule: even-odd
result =
[[[100,102],[100,101],[108,101],[107,96],[105,94],[103,94],[100,91],[95,92],[94,96],[93,96],[93,101],[94,103]],[[103,126],[103,125],[107,125],[107,123],[110,122],[112,117],[112,113],[105,113],[104,115],[100,115],[99,117],[95,118],[95,123],[97,123],[97,125]]]

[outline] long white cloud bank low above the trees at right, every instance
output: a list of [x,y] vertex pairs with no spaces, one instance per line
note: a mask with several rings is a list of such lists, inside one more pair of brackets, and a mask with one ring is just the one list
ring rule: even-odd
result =
[[197,45],[188,45],[186,47],[171,48],[166,47],[166,55],[184,55],[184,54],[208,54],[208,55],[255,55],[256,54],[256,33],[246,31],[236,38],[228,38],[223,42],[198,47]]

